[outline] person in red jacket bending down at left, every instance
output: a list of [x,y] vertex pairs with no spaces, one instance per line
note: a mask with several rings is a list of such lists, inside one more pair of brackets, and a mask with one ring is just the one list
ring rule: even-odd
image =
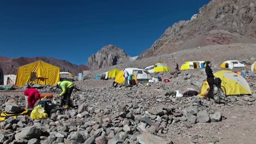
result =
[[28,88],[24,92],[25,99],[26,99],[26,109],[28,106],[32,109],[34,107],[34,104],[36,104],[37,100],[40,98],[40,93],[37,91],[37,89],[34,88]]

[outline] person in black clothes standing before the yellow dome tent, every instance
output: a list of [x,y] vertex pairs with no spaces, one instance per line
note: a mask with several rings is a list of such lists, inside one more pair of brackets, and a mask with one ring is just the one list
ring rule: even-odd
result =
[[214,75],[212,73],[211,69],[212,63],[207,61],[206,62],[206,68],[205,68],[205,73],[207,75],[207,82],[210,87],[210,91],[208,92],[208,100],[213,97],[213,85],[214,85]]

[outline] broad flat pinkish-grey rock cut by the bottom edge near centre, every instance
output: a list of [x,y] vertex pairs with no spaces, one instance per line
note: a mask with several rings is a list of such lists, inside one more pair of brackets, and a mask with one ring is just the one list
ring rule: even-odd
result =
[[141,144],[167,144],[161,137],[146,132],[137,136],[137,142]]

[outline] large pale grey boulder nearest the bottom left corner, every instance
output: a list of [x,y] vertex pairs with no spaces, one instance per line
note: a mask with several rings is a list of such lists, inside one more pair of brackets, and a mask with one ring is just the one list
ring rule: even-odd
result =
[[20,133],[15,134],[15,140],[19,141],[20,139],[39,139],[41,136],[41,127],[31,126],[22,128]]

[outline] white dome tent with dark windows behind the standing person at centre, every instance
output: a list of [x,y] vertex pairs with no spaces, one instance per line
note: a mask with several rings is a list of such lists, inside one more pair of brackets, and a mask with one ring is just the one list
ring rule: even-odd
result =
[[148,81],[152,79],[151,74],[147,70],[138,68],[126,68],[125,70],[129,74],[133,74],[138,81]]

